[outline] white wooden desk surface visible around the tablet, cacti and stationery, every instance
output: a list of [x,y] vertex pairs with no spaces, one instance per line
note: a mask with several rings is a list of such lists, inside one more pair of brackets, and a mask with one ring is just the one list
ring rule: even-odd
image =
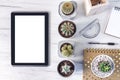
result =
[[[119,48],[119,46],[88,46],[88,41],[116,42],[120,39],[104,34],[104,30],[109,18],[110,9],[94,15],[85,16],[83,0],[75,0],[79,5],[79,17],[74,20],[78,27],[84,26],[88,21],[98,18],[101,24],[100,34],[93,39],[86,39],[82,36],[73,39],[62,38],[58,33],[58,25],[63,19],[58,14],[58,5],[63,0],[0,0],[0,80],[82,80],[82,50],[84,48]],[[117,2],[113,5],[120,6]],[[50,53],[48,67],[26,67],[11,65],[11,36],[10,36],[10,13],[12,11],[48,11],[50,13]],[[80,63],[79,69],[69,78],[63,78],[57,73],[57,65],[64,58],[58,56],[58,43],[62,40],[74,40],[80,42],[79,56],[74,59]]]

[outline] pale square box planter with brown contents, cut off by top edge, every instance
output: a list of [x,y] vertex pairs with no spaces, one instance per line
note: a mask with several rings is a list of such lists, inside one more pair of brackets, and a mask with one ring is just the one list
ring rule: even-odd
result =
[[95,15],[108,10],[109,0],[84,0],[86,16]]

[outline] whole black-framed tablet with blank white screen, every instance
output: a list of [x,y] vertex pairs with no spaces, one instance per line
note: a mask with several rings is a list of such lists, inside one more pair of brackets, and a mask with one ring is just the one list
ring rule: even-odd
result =
[[48,65],[47,12],[11,13],[11,64]]

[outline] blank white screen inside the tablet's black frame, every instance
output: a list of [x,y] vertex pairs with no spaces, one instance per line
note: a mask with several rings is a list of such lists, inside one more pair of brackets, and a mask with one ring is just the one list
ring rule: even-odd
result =
[[15,16],[15,63],[45,62],[45,16]]

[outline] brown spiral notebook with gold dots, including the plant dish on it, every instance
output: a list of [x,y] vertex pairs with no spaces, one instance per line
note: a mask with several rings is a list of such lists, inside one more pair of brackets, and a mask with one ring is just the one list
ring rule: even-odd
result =
[[120,80],[120,49],[84,49],[83,80]]

